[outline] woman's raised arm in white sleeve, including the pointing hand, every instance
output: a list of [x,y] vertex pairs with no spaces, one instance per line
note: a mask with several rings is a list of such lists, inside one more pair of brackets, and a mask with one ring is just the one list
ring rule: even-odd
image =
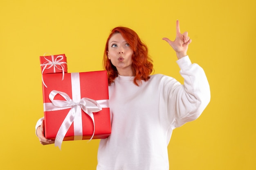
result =
[[188,32],[180,33],[180,24],[176,22],[176,38],[174,41],[163,38],[175,50],[180,74],[184,78],[184,85],[171,82],[166,83],[166,102],[168,105],[168,120],[174,127],[195,120],[210,102],[210,87],[204,70],[195,63],[191,63],[187,50],[191,39]]

